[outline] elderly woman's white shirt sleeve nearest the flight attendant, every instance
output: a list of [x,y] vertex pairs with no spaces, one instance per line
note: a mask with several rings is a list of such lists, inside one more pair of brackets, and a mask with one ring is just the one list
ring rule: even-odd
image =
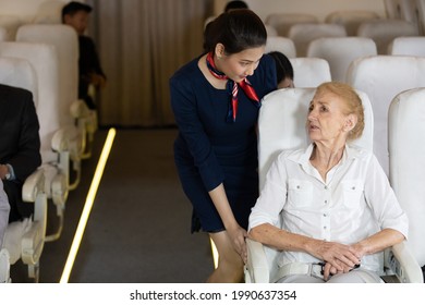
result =
[[280,213],[287,202],[288,173],[284,167],[284,158],[286,155],[282,152],[271,164],[265,185],[252,209],[248,230],[263,223],[279,225]]

